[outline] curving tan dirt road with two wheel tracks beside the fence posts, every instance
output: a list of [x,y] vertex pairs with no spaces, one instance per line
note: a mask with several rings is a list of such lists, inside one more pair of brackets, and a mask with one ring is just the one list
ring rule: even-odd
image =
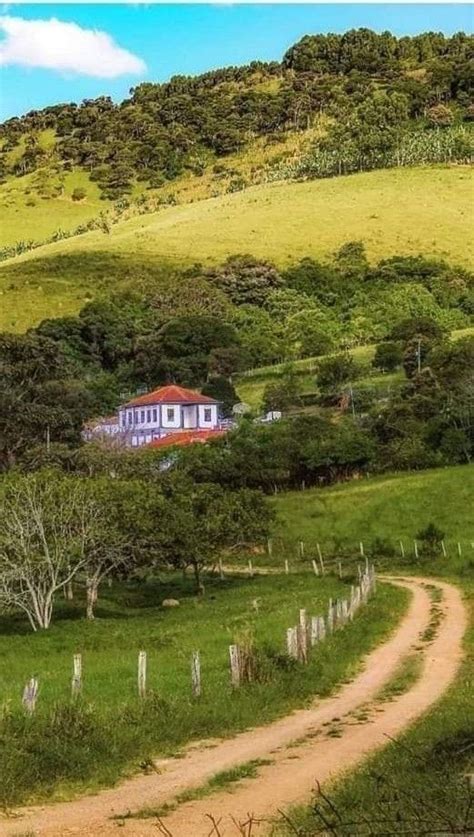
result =
[[[441,697],[458,670],[467,623],[459,590],[432,579],[393,581],[412,591],[408,612],[391,638],[368,655],[362,672],[337,695],[214,746],[190,748],[183,759],[158,762],[160,773],[138,776],[96,796],[24,811],[18,819],[3,821],[0,834],[156,837],[159,831],[154,820],[110,818],[145,806],[158,807],[187,788],[199,787],[215,773],[251,759],[272,761],[259,769],[255,779],[239,783],[233,793],[220,791],[180,805],[164,820],[173,837],[215,834],[208,813],[221,820],[219,828],[224,837],[236,837],[239,832],[235,823],[245,822],[249,814],[269,818],[278,809],[308,800],[316,780],[326,782],[354,767],[385,744],[387,735],[399,734],[425,712]],[[367,720],[357,720],[354,712],[373,701],[399,663],[420,647],[421,634],[431,615],[426,584],[435,584],[442,591],[443,616],[434,640],[424,651],[419,680],[392,702],[372,706]],[[341,737],[336,738],[326,731],[335,719],[342,721]],[[262,824],[252,834],[263,835],[266,829]]]

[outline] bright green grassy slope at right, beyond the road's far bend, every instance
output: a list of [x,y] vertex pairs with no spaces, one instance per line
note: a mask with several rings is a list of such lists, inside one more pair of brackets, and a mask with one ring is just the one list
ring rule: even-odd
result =
[[472,554],[474,465],[459,465],[342,483],[332,488],[287,492],[275,498],[276,534],[289,543],[339,541],[358,545],[376,537],[408,549],[416,533],[434,521],[446,533],[451,554],[456,543]]

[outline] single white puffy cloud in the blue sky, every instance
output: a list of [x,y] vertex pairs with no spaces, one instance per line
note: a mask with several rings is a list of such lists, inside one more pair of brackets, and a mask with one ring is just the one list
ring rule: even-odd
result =
[[0,16],[0,66],[17,64],[65,73],[115,78],[143,73],[145,62],[119,47],[106,32],[76,23]]

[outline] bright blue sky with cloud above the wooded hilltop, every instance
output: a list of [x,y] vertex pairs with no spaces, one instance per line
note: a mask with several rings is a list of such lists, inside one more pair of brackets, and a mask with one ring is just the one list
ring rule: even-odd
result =
[[58,102],[120,101],[142,81],[280,60],[305,34],[452,34],[472,24],[468,4],[4,4],[0,121]]

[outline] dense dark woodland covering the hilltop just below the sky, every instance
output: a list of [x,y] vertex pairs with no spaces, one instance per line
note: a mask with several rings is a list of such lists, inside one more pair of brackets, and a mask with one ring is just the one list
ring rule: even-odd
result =
[[[184,170],[200,175],[252,138],[277,142],[321,120],[327,136],[302,169],[311,176],[465,159],[468,139],[456,125],[474,115],[472,43],[463,33],[396,38],[368,29],[305,36],[282,63],[175,76],[140,84],[118,105],[101,96],[10,119],[0,170],[5,178],[80,166],[115,199],[135,181],[157,188]],[[54,134],[47,147],[44,131]]]

